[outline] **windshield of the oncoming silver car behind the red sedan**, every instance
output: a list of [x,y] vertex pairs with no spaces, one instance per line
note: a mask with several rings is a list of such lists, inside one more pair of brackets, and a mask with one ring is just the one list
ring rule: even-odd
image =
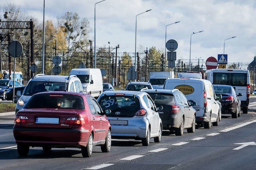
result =
[[[66,85],[66,89],[68,84]],[[25,96],[32,96],[40,92],[65,91],[64,82],[30,82],[24,92]]]

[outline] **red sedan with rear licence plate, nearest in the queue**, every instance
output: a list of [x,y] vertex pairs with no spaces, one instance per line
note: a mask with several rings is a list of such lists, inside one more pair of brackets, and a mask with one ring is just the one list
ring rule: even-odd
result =
[[33,95],[18,111],[13,127],[20,156],[29,147],[81,148],[83,157],[92,155],[92,147],[102,152],[111,147],[111,127],[97,101],[88,94],[42,92]]

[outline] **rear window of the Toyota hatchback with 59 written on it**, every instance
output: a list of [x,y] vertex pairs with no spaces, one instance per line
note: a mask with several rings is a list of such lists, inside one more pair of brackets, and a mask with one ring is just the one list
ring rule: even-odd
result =
[[103,96],[98,103],[104,111],[110,109],[111,112],[107,116],[111,117],[133,117],[140,109],[138,98],[133,96]]

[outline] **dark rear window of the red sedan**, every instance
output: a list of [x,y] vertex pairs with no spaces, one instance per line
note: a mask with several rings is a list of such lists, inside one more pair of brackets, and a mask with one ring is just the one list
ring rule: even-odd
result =
[[84,100],[71,94],[36,94],[28,100],[24,109],[62,108],[84,110]]

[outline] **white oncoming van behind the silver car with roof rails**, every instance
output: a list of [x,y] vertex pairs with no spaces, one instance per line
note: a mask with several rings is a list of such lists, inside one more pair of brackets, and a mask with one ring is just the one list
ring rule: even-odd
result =
[[73,68],[70,75],[76,75],[82,82],[83,92],[98,97],[103,92],[102,74],[98,68]]

